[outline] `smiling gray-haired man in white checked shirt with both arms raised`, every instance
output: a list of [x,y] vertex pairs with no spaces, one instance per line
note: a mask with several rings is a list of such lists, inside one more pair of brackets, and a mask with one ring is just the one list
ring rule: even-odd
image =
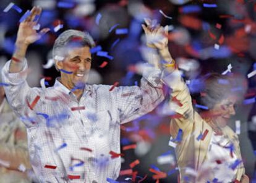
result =
[[40,182],[106,182],[119,176],[120,124],[153,110],[163,101],[160,69],[148,67],[141,87],[87,85],[94,42],[88,33],[63,32],[53,57],[61,77],[53,87],[30,88],[25,80],[28,45],[38,40],[33,30],[41,9],[33,7],[20,23],[11,61],[2,69],[6,95],[27,127],[28,150]]

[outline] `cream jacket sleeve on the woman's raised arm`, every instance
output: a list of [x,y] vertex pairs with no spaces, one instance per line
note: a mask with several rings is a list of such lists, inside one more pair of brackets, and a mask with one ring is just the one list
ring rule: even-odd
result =
[[194,109],[192,106],[189,88],[177,69],[171,72],[171,74],[163,72],[161,78],[162,82],[171,89],[170,101],[178,103],[175,108],[172,108],[179,117],[174,117],[171,120],[171,122],[176,124],[176,126],[172,126],[175,129],[171,130],[174,130],[175,132],[177,132],[178,129],[185,130],[190,124],[193,124],[194,119]]

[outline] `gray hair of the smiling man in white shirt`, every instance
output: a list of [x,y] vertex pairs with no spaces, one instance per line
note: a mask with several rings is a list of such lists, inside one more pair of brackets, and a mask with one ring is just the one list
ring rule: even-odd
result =
[[66,30],[61,33],[61,35],[58,36],[58,38],[55,40],[53,45],[53,59],[55,68],[59,71],[59,69],[56,66],[56,62],[58,62],[58,59],[56,59],[56,56],[58,57],[65,57],[65,54],[67,53],[67,45],[71,42],[79,41],[79,44],[81,46],[89,46],[90,48],[93,48],[95,46],[95,42],[93,41],[92,36],[88,32],[82,32],[79,30]]

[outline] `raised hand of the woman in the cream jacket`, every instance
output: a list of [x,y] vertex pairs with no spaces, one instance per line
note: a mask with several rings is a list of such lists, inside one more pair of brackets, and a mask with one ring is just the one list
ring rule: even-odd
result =
[[152,20],[145,19],[146,25],[142,24],[147,39],[147,46],[163,50],[168,48],[168,25],[162,27],[159,24],[154,25]]

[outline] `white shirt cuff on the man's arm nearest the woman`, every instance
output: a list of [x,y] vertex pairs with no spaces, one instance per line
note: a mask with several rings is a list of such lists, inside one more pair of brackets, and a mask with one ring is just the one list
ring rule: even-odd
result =
[[161,88],[163,87],[163,83],[161,82],[161,72],[160,69],[151,64],[144,64],[142,76],[154,87]]

